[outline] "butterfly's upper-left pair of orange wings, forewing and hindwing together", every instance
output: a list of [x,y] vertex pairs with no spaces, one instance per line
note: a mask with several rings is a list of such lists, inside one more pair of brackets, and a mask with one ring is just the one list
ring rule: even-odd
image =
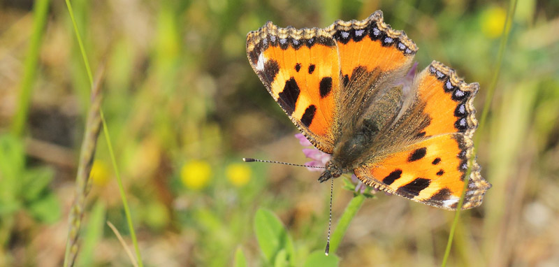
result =
[[268,22],[247,35],[249,62],[268,92],[326,153],[333,152],[342,122],[358,117],[360,108],[348,102],[362,98],[365,90],[355,86],[405,71],[416,50],[403,31],[383,22],[380,10],[365,20],[339,20],[324,29],[279,28]]

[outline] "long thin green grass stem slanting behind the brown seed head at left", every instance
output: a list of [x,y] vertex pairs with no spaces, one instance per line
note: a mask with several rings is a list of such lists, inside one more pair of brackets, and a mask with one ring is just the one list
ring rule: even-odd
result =
[[[70,13],[70,17],[72,20],[72,24],[75,31],[75,36],[78,39],[78,45],[80,46],[80,51],[82,54],[83,62],[85,64],[85,69],[87,71],[87,77],[89,78],[89,83],[93,85],[93,75],[91,68],[89,67],[89,60],[87,59],[87,54],[85,52],[85,48],[82,42],[82,38],[80,36],[80,31],[78,30],[78,24],[75,22],[74,13],[72,10],[72,5],[69,0],[66,0],[66,7],[68,8],[68,13]],[[122,206],[124,208],[124,213],[126,214],[126,222],[128,223],[130,236],[132,238],[132,243],[134,244],[134,250],[136,252],[136,259],[138,260],[138,266],[143,267],[143,261],[140,254],[140,247],[138,246],[138,240],[136,239],[136,231],[134,230],[134,226],[132,223],[132,217],[130,215],[130,209],[128,207],[128,201],[126,200],[126,194],[124,192],[124,187],[122,185],[122,179],[120,178],[120,174],[118,171],[117,161],[115,159],[115,153],[112,150],[112,143],[110,141],[110,135],[108,132],[108,127],[105,121],[105,116],[103,115],[103,109],[99,108],[99,113],[101,115],[101,123],[103,124],[103,133],[107,142],[110,159],[112,162],[112,168],[115,169],[115,176],[117,177],[117,182],[119,186],[120,197],[122,199]]]

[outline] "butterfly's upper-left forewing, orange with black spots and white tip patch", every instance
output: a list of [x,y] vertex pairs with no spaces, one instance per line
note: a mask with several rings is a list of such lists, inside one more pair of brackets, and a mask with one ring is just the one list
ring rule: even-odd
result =
[[277,28],[247,36],[252,68],[285,113],[319,150],[332,153],[340,92],[337,47],[324,29]]

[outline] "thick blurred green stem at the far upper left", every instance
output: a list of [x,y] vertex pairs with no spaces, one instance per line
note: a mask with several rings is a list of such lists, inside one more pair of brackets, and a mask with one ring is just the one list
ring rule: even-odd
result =
[[17,112],[12,122],[11,130],[14,136],[22,135],[27,114],[29,113],[31,89],[37,72],[39,48],[41,48],[41,40],[43,39],[48,6],[49,0],[38,0],[35,1],[33,8],[33,34],[31,35],[31,41],[27,50],[27,57],[25,57],[20,96],[17,99]]

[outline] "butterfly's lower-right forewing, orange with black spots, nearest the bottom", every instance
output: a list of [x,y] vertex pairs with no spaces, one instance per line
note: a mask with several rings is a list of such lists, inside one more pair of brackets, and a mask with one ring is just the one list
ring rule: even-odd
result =
[[[467,171],[468,140],[458,133],[428,138],[390,154],[375,164],[356,168],[365,184],[427,205],[456,209]],[[471,140],[470,140],[471,141]],[[481,204],[491,187],[474,164],[463,208]]]

